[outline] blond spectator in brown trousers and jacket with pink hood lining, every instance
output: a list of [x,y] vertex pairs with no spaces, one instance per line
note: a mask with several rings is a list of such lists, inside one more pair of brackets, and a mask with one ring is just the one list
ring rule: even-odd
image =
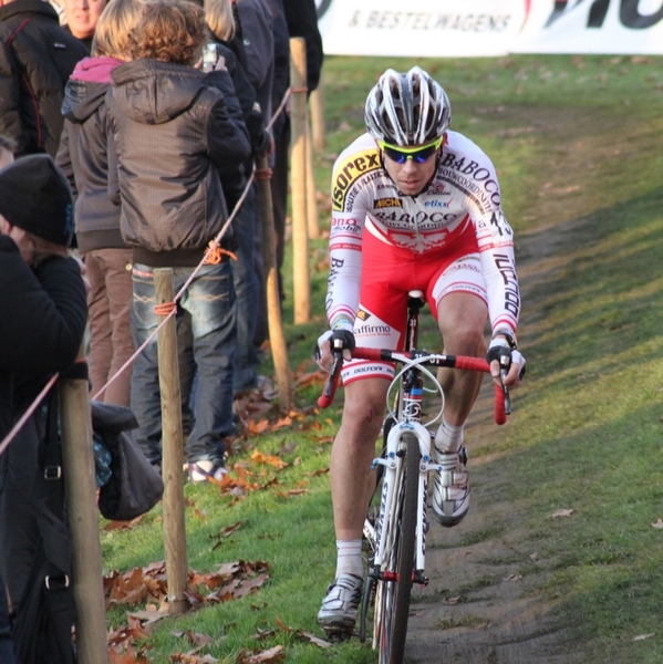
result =
[[[105,96],[111,89],[111,72],[126,59],[128,33],[138,22],[142,9],[141,0],[113,0],[108,4],[97,23],[93,56],[76,65],[62,107],[65,122],[58,165],[77,194],[76,241],[91,286],[87,305],[92,396],[134,353],[130,323],[132,249],[120,232],[120,206],[108,195]],[[101,401],[130,405],[132,369],[125,369],[108,385]]]

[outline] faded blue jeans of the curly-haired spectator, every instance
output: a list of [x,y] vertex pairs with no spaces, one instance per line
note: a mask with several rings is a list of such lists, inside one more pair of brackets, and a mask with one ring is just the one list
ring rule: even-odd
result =
[[[173,268],[175,293],[194,268]],[[158,325],[154,313],[156,294],[153,268],[134,264],[132,334],[136,347]],[[187,461],[224,463],[224,438],[232,434],[232,374],[237,342],[237,309],[232,271],[228,258],[218,266],[204,266],[177,303],[191,317],[193,353],[197,387],[193,429],[186,443]],[[177,317],[179,318],[179,315]],[[186,395],[183,395],[186,398]],[[132,375],[132,409],[138,421],[136,440],[156,464],[162,458],[162,404],[156,336],[136,357]]]

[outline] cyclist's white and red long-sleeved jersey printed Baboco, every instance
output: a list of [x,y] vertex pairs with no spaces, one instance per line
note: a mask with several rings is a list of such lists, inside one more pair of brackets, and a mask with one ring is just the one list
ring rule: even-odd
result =
[[[514,234],[500,205],[493,163],[472,141],[447,132],[437,169],[417,196],[398,191],[369,135],[336,159],[332,176],[332,222],[327,314],[333,324],[354,321],[362,271],[362,237],[372,234],[387,247],[413,255],[452,249],[476,237],[493,329],[518,325],[520,293]],[[473,239],[474,243],[474,239]]]

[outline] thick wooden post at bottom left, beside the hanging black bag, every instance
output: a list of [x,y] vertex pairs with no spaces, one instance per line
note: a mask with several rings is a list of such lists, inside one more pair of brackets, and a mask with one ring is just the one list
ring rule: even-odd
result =
[[[84,357],[81,347],[79,360]],[[103,664],[108,662],[108,642],[87,381],[62,377],[59,385],[79,664]]]

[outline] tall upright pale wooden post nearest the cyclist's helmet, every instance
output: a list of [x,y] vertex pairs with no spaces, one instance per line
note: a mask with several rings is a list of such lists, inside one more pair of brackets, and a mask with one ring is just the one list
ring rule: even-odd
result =
[[292,268],[294,323],[311,320],[309,234],[307,228],[307,51],[301,37],[290,40],[292,126],[290,181],[292,189]]

